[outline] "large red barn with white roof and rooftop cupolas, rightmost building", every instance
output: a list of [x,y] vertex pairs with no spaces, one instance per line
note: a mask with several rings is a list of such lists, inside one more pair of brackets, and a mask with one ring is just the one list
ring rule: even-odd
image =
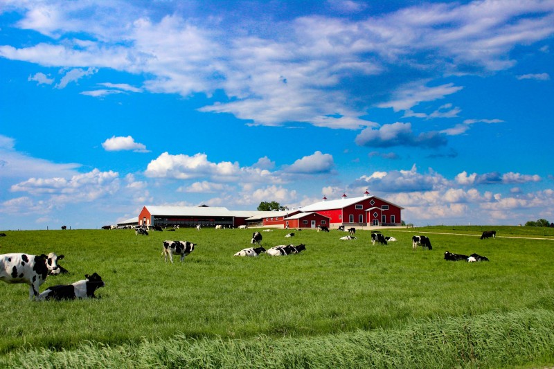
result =
[[303,206],[304,213],[315,212],[330,219],[330,226],[400,226],[401,206],[365,192],[362,197],[327,200]]

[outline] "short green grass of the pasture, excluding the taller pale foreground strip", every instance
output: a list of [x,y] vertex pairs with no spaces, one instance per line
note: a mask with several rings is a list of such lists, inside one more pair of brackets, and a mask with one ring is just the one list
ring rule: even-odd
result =
[[[274,345],[285,350],[314,342],[315,349],[323,345],[318,339],[405,334],[420,324],[481,316],[493,321],[519,312],[548,316],[554,309],[551,240],[432,234],[432,251],[413,252],[411,235],[422,230],[405,231],[384,231],[398,239],[388,246],[372,246],[368,231],[351,242],[340,241],[338,231],[302,231],[292,240],[284,230],[263,233],[266,248],[306,244],[303,253],[284,258],[233,258],[250,246],[251,230],[181,229],[148,237],[133,231],[8,231],[0,239],[2,253],[66,255],[60,264],[71,274],[48,277],[41,290],[95,271],[107,286],[97,300],[37,303],[28,300],[28,286],[0,283],[0,354],[8,360],[30,350],[53,360],[65,352],[70,360],[102,346],[134,360],[134,350],[145,345],[181,341],[223,352],[234,347],[229,345],[265,342],[268,354]],[[166,264],[160,255],[166,239],[198,246],[183,263]],[[491,261],[446,262],[447,250]]]

